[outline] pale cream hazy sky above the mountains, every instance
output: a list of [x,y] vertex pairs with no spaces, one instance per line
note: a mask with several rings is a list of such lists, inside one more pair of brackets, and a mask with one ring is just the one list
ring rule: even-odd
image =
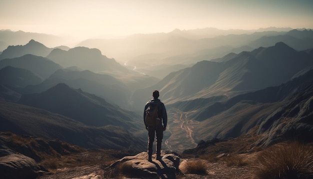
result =
[[0,29],[82,38],[269,26],[313,28],[313,0],[0,0]]

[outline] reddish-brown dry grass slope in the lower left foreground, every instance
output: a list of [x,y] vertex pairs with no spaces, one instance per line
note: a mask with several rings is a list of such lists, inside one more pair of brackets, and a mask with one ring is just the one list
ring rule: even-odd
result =
[[[117,159],[130,155],[129,152],[122,150],[86,149],[60,140],[53,140],[59,146],[55,150],[51,145],[47,144],[48,139],[26,135],[21,136],[11,132],[0,132],[0,136],[9,141],[7,145],[10,148],[28,156],[29,154],[35,155],[37,162],[52,173],[54,170],[62,167],[100,165],[104,168]],[[41,142],[37,142],[38,140]],[[46,145],[41,145],[43,141]],[[25,150],[20,150],[20,148]]]

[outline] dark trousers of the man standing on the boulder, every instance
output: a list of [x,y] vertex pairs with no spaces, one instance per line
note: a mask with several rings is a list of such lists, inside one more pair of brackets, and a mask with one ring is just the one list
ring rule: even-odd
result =
[[156,154],[161,154],[161,145],[162,145],[162,139],[163,139],[163,127],[160,126],[149,126],[148,127],[148,155],[151,156],[153,153],[153,141],[154,136],[156,134]]

